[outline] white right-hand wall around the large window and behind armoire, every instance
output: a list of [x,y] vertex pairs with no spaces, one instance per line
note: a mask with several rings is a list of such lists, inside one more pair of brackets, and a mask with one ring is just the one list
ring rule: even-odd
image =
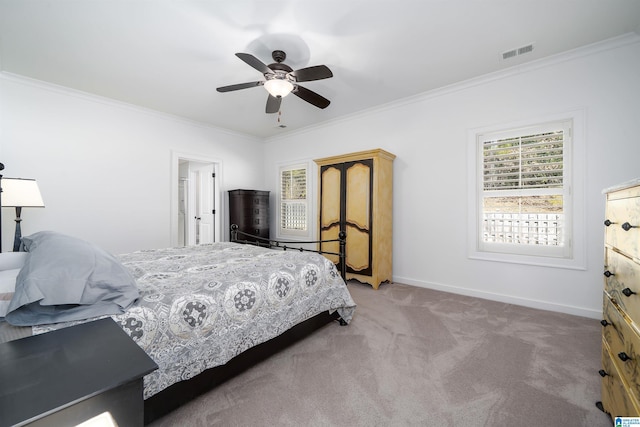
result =
[[[383,148],[394,164],[394,281],[598,318],[603,188],[640,176],[640,38],[612,40],[267,141],[277,165]],[[425,75],[428,78],[428,75]],[[468,130],[583,109],[586,270],[467,257]],[[315,172],[314,172],[315,173]],[[315,186],[314,186],[315,188]],[[314,200],[316,195],[314,194]],[[584,249],[584,248],[583,248]]]

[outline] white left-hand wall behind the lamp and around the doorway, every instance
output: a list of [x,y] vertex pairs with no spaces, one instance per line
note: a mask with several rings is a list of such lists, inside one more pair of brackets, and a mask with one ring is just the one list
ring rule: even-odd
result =
[[[226,190],[261,183],[263,147],[255,138],[0,73],[2,174],[37,179],[46,205],[23,209],[23,235],[56,230],[114,253],[167,247],[172,185],[177,197],[172,153],[219,159],[226,200]],[[15,213],[2,214],[9,251]]]

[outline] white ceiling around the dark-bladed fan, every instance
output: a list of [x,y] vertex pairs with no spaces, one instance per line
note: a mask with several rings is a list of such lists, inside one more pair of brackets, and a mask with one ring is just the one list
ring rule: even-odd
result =
[[[265,138],[633,31],[638,0],[0,0],[0,70]],[[286,128],[264,88],[216,92],[275,49],[334,74]]]

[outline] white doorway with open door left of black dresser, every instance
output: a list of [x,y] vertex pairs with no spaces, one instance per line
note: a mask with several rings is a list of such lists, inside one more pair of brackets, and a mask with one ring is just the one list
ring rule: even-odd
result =
[[[177,166],[177,167],[176,167]],[[172,173],[172,246],[221,241],[219,163],[193,156],[174,156]]]

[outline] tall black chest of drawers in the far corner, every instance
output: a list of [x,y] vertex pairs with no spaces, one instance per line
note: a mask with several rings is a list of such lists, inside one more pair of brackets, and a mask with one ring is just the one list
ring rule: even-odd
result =
[[[269,238],[269,192],[261,190],[229,191],[229,224],[238,231],[265,239]],[[238,235],[238,240],[255,241]]]

